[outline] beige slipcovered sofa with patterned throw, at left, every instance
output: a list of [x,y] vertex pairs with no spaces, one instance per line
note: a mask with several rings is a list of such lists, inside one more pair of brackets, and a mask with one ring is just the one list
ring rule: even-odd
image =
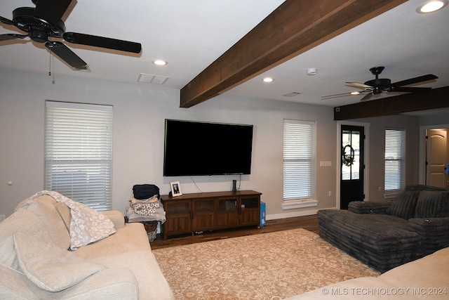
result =
[[114,233],[71,250],[69,207],[22,201],[0,223],[0,299],[174,299],[143,225],[102,215]]

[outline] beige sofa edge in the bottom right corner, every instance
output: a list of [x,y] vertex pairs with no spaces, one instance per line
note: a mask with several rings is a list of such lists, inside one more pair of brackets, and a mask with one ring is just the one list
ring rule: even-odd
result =
[[449,299],[449,248],[377,278],[355,278],[288,298],[306,299]]

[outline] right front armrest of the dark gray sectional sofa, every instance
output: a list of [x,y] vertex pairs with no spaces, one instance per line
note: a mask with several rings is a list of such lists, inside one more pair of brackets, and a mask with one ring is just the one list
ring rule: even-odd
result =
[[408,230],[420,235],[424,254],[449,247],[449,217],[409,219]]

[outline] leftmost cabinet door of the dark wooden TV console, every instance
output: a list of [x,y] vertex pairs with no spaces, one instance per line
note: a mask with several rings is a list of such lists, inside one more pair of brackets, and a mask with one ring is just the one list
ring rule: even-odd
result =
[[170,201],[164,203],[166,209],[166,222],[164,225],[164,236],[192,233],[191,207],[189,200]]

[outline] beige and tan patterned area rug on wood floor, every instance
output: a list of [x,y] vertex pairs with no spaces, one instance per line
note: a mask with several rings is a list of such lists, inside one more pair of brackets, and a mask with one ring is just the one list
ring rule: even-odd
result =
[[377,276],[308,230],[294,229],[153,250],[175,299],[284,299]]

